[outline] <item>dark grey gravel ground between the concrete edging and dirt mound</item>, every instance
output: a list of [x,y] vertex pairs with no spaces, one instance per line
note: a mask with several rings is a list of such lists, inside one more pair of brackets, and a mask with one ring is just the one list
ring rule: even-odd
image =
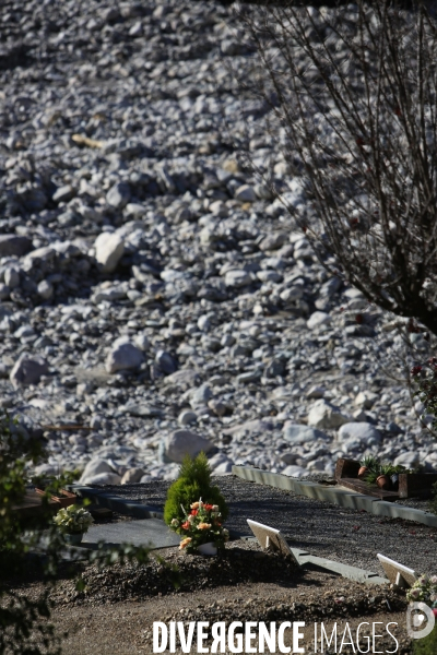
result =
[[[229,504],[231,529],[249,534],[246,519],[252,519],[280,528],[296,547],[346,564],[382,573],[376,559],[381,552],[417,572],[435,571],[434,527],[340,508],[235,476],[213,479]],[[169,485],[156,481],[105,490],[163,508]]]

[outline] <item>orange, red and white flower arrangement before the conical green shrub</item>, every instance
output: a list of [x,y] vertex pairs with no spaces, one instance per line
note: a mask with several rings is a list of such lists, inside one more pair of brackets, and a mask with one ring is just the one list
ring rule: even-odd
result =
[[182,508],[185,519],[173,519],[170,528],[180,535],[182,540],[179,550],[187,549],[193,552],[203,544],[213,543],[216,548],[224,548],[229,539],[229,533],[222,527],[222,514],[218,505],[202,502],[193,502],[190,512]]

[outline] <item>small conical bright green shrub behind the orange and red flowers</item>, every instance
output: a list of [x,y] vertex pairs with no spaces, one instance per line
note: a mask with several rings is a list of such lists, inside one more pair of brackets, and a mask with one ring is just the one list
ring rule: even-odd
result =
[[223,521],[226,521],[229,510],[218,487],[211,485],[211,467],[204,453],[200,453],[193,460],[189,455],[185,457],[178,479],[168,489],[164,507],[166,524],[169,525],[173,519],[182,520],[182,508],[189,510],[190,504],[200,498],[203,502],[217,504]]

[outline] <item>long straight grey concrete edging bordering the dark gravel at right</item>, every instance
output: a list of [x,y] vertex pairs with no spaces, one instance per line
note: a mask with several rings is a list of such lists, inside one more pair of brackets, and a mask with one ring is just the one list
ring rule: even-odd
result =
[[250,466],[233,466],[232,473],[244,480],[275,487],[276,489],[284,489],[285,491],[294,491],[295,493],[307,496],[314,500],[331,502],[332,504],[353,510],[365,510],[377,516],[404,519],[406,521],[415,521],[416,523],[437,527],[437,516],[435,514],[424,512],[423,510],[416,510],[415,508],[399,505],[394,502],[387,502],[373,496],[364,496],[363,493],[356,493],[355,491],[349,491],[347,489],[324,487],[318,483],[299,480],[298,478],[292,478],[280,473],[270,473]]

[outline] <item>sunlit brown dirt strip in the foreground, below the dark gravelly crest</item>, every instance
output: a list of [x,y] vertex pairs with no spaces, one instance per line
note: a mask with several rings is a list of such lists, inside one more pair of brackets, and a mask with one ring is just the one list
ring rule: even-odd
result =
[[[359,600],[367,595],[374,599],[373,610],[357,610],[357,615],[353,612],[355,616],[351,617],[349,608],[358,607]],[[272,620],[277,623],[305,621],[305,639],[300,645],[305,647],[306,655],[315,653],[316,622],[318,634],[321,622],[324,623],[328,634],[331,634],[334,622],[338,623],[338,633],[342,634],[347,622],[354,639],[359,623],[367,621],[371,631],[371,624],[375,622],[379,623],[376,626],[376,634],[383,636],[376,640],[375,651],[370,652],[394,652],[399,655],[411,653],[405,630],[405,611],[390,611],[387,605],[388,597],[386,591],[376,592],[375,587],[370,591],[370,587],[345,583],[330,574],[307,571],[293,586],[279,583],[241,583],[196,593],[175,593],[146,602],[129,600],[93,607],[63,605],[57,609],[54,622],[59,632],[69,632],[62,640],[63,655],[149,655],[153,653],[154,621],[168,623],[178,620],[204,620],[212,623],[228,617],[227,623],[233,620],[265,621],[268,624]],[[316,608],[320,615],[326,609],[327,616],[316,616]],[[386,632],[386,626],[389,623],[392,623],[389,630],[395,636],[398,646]],[[364,631],[363,635],[365,634]],[[366,651],[366,642],[363,640],[364,638],[361,647]],[[290,641],[286,640],[286,643],[290,644]],[[178,648],[176,652],[182,651]],[[198,652],[197,646],[190,651]],[[353,653],[347,646],[341,652]],[[165,653],[169,651],[166,650]]]

